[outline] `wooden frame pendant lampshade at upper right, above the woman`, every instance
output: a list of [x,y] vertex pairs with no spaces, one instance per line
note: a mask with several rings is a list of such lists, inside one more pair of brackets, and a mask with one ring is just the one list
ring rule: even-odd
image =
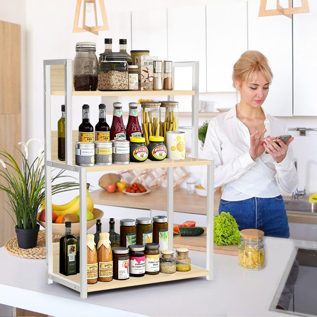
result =
[[301,0],[301,7],[292,7],[291,0],[288,0],[288,8],[283,8],[280,5],[280,0],[276,0],[276,9],[266,10],[267,0],[261,0],[259,16],[278,16],[285,15],[292,17],[295,13],[308,13],[308,0]]

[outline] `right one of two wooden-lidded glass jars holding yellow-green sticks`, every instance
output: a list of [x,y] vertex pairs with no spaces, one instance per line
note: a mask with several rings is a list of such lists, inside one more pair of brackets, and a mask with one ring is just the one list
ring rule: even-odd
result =
[[166,142],[167,131],[178,131],[178,104],[177,101],[160,101],[160,131]]

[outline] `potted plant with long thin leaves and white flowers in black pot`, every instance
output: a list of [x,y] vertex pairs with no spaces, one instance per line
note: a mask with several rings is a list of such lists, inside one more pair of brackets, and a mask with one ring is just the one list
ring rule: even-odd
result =
[[[3,169],[0,169],[0,177],[4,180],[4,183],[0,184],[0,190],[5,191],[9,198],[10,209],[15,214],[16,221],[9,210],[7,212],[16,223],[15,229],[18,246],[23,249],[36,246],[37,235],[40,229],[36,216],[40,204],[45,199],[44,150],[41,150],[31,163],[28,161],[28,146],[34,140],[36,139],[30,139],[26,144],[24,142],[18,143],[24,147],[25,152],[24,154],[18,149],[21,153],[21,166],[17,164],[10,153],[0,149],[0,163],[3,167]],[[70,177],[62,175],[64,171],[61,170],[52,177],[52,195],[79,188],[78,183],[74,182],[53,184],[59,178]],[[6,186],[4,185],[5,182]]]

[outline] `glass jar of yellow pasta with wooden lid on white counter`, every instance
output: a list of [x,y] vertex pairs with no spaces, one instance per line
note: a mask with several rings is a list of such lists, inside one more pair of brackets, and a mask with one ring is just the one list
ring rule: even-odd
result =
[[265,266],[264,232],[258,229],[240,231],[238,264],[241,268],[258,270]]

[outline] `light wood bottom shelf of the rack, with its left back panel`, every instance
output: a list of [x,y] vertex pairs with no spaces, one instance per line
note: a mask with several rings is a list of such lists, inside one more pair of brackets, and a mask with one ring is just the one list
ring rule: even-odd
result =
[[[59,243],[53,243],[53,273],[67,278],[73,282],[80,283],[80,274],[65,276],[59,273]],[[191,265],[188,272],[175,272],[173,274],[159,273],[157,275],[145,275],[143,277],[130,277],[125,281],[112,280],[111,282],[98,282],[88,285],[88,292],[101,291],[113,288],[130,287],[137,285],[146,285],[167,281],[183,280],[187,278],[209,275],[209,271]]]

